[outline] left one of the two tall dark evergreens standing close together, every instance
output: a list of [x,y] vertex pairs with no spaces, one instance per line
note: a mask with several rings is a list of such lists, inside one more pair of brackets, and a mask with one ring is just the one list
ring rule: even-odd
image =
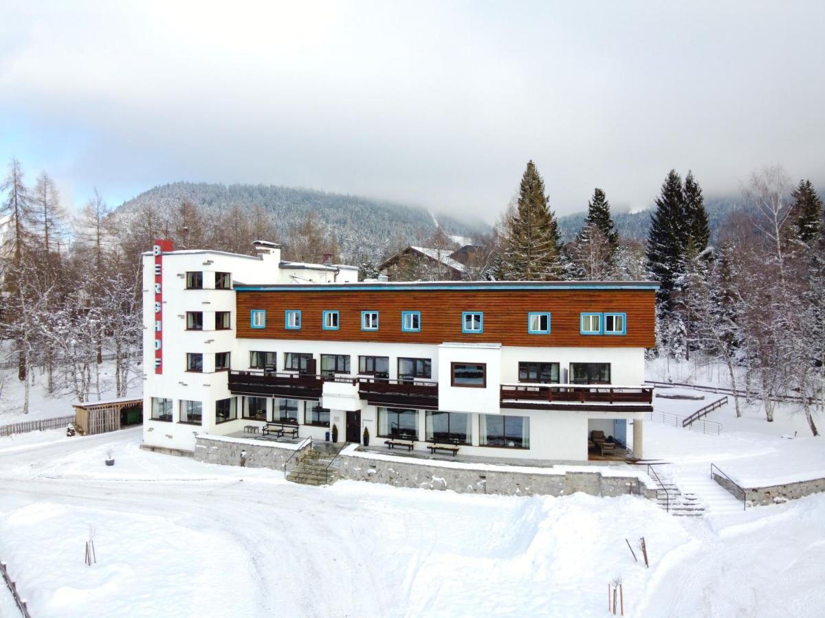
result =
[[648,269],[659,281],[659,309],[664,313],[669,313],[673,308],[673,292],[685,270],[689,227],[684,205],[681,178],[676,170],[671,170],[662,183],[662,194],[656,199],[647,250]]

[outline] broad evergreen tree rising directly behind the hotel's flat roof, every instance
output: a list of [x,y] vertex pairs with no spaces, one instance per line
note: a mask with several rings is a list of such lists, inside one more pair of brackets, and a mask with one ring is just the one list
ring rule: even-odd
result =
[[532,161],[521,177],[516,213],[507,221],[504,263],[511,280],[547,281],[563,276],[559,222],[549,209],[544,180]]

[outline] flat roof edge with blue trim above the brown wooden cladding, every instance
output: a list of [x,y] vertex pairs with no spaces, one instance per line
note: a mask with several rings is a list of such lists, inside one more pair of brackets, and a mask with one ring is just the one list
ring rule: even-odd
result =
[[239,283],[238,292],[403,292],[405,290],[652,290],[656,281],[361,281],[358,283],[289,283],[255,285]]

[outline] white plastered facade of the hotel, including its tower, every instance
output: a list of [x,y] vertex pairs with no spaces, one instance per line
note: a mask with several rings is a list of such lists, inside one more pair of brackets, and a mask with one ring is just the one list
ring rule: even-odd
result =
[[[163,365],[160,373],[154,371],[154,345],[157,338],[154,310],[157,308],[155,293],[158,291],[155,256],[144,255],[144,442],[148,446],[192,451],[195,437],[199,433],[226,435],[241,432],[250,424],[261,425],[261,420],[244,418],[243,412],[250,410],[248,404],[252,400],[246,400],[243,395],[233,395],[229,390],[228,372],[216,371],[215,368],[215,354],[229,353],[230,368],[233,371],[251,372],[259,369],[250,366],[252,352],[274,353],[267,358],[274,356],[271,365],[281,375],[290,372],[285,368],[286,353],[311,354],[318,368],[321,368],[322,354],[346,355],[350,357],[349,377],[353,380],[357,377],[372,377],[367,374],[360,376],[358,373],[360,356],[389,358],[389,381],[399,378],[398,358],[429,359],[429,376],[416,379],[421,382],[437,382],[438,407],[437,410],[418,410],[414,415],[417,433],[415,449],[419,451],[428,449],[427,437],[432,432],[428,433],[427,419],[432,418],[431,413],[434,411],[460,413],[450,415],[449,418],[450,423],[459,422],[467,430],[466,443],[460,447],[462,455],[587,461],[587,436],[593,429],[603,431],[606,436],[615,433],[617,439],[621,438],[619,442],[628,445],[633,441],[632,434],[641,436],[644,406],[639,406],[636,410],[632,405],[625,405],[617,406],[620,410],[611,410],[609,405],[582,403],[558,406],[557,409],[536,409],[536,406],[529,405],[517,408],[513,407],[512,402],[508,405],[505,405],[507,402],[502,402],[500,387],[516,384],[519,381],[519,363],[526,362],[559,363],[559,382],[562,383],[568,382],[571,363],[609,363],[611,384],[639,386],[643,383],[642,348],[239,339],[235,293],[232,289],[216,289],[215,273],[229,273],[233,282],[256,285],[354,283],[357,280],[357,269],[354,267],[286,263],[281,260],[280,247],[266,245],[261,248],[260,255],[256,257],[208,250],[172,251],[161,255],[159,272],[162,279],[163,320],[160,332]],[[202,273],[201,289],[187,288],[187,273]],[[216,316],[222,311],[229,311],[230,328],[216,330]],[[187,329],[187,312],[196,312],[202,316],[202,328]],[[240,319],[249,320],[250,316],[241,316]],[[200,371],[187,370],[187,354],[202,355]],[[454,385],[454,363],[483,363],[486,367],[483,386]],[[297,371],[292,373],[298,376]],[[391,414],[384,412],[384,406],[370,405],[366,399],[362,399],[357,381],[354,383],[353,380],[342,379],[340,373],[337,378],[335,382],[323,382],[323,393],[319,397],[298,400],[294,404],[298,407],[299,437],[328,439],[332,424],[335,424],[338,441],[344,442],[347,439],[347,413],[357,411],[360,413],[359,436],[366,428],[370,433],[370,444],[382,445],[389,438],[386,433]],[[263,405],[266,408],[266,419],[273,419],[276,397],[260,397],[265,400]],[[166,400],[171,400],[171,404],[162,404]],[[254,400],[256,405],[260,401]],[[192,410],[186,402],[200,402],[199,420],[186,414],[186,410]],[[165,405],[171,407],[171,414],[166,414],[168,407],[164,407]],[[229,405],[226,410],[229,419],[219,422],[219,410],[223,413],[226,405]],[[398,407],[397,405],[395,409]],[[325,419],[325,414],[328,414],[327,422],[313,424],[314,418]],[[381,414],[385,414],[384,418]],[[405,422],[413,418],[412,413],[405,414]],[[513,419],[508,420],[507,417]],[[627,428],[627,421],[637,424],[635,431]],[[502,423],[516,423],[516,431],[521,432],[521,435],[512,442],[505,440],[507,443],[504,444],[485,445],[489,428],[493,424],[503,427]],[[507,447],[508,444],[513,446],[515,442],[529,444],[529,447]]]

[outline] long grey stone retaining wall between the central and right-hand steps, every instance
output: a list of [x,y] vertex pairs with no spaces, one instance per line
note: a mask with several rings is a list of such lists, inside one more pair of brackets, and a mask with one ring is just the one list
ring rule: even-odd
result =
[[452,468],[351,455],[342,455],[340,460],[339,475],[342,479],[364,480],[395,487],[452,489],[459,494],[563,496],[581,491],[594,496],[641,494],[648,499],[656,498],[656,490],[648,489],[635,476],[605,476],[601,472],[571,471],[531,474],[487,468]]

